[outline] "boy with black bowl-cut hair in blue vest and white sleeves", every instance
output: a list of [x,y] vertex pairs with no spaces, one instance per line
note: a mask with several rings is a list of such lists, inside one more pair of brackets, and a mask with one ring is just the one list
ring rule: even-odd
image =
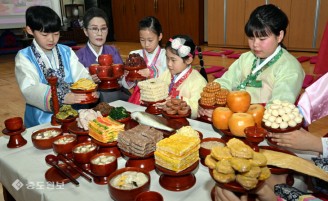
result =
[[71,93],[70,85],[80,78],[92,78],[71,48],[57,44],[61,20],[55,11],[46,6],[32,6],[26,10],[25,17],[26,31],[34,40],[31,46],[17,53],[15,75],[26,101],[24,124],[29,128],[51,121],[53,111],[47,77],[58,77],[60,105],[85,100],[86,95]]

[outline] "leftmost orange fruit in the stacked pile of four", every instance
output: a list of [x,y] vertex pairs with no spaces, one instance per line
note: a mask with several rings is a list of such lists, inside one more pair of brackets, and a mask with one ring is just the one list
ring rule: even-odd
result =
[[217,107],[212,113],[213,126],[219,130],[228,130],[228,121],[233,112],[227,107]]

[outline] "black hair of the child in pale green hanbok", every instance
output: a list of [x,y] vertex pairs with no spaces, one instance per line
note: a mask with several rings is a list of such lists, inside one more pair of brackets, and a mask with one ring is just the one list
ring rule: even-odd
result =
[[251,13],[245,25],[245,33],[247,37],[265,37],[270,34],[279,36],[280,31],[286,35],[287,26],[287,15],[277,6],[267,4],[257,7]]

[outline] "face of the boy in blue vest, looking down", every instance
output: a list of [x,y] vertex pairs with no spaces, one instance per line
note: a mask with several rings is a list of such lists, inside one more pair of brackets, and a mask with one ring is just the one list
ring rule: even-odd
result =
[[43,51],[51,51],[58,43],[60,33],[45,33],[41,31],[32,31],[30,28],[26,29],[27,32],[34,36],[35,41]]

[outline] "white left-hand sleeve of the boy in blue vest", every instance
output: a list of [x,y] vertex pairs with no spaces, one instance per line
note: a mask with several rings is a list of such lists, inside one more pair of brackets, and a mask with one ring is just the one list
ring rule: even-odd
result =
[[50,86],[41,82],[34,64],[21,53],[15,57],[15,76],[27,104],[51,111]]

